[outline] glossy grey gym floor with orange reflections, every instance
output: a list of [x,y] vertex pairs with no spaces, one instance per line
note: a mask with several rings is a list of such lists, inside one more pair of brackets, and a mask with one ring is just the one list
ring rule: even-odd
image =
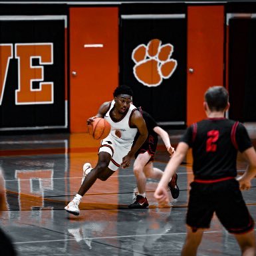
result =
[[[170,130],[173,146],[183,131]],[[253,129],[249,134],[256,142]],[[192,156],[178,169],[180,196],[160,208],[154,199],[156,180],[148,180],[148,209],[128,209],[136,192],[132,168],[119,170],[106,182],[97,180],[82,198],[80,215],[64,211],[74,197],[85,162],[96,165],[98,140],[88,134],[0,136],[0,167],[5,178],[5,209],[1,229],[19,256],[54,255],[180,255],[186,237],[185,217],[193,180]],[[160,141],[154,166],[164,170],[169,160]],[[247,167],[238,156],[239,175]],[[256,219],[256,181],[243,192]],[[232,235],[216,217],[205,231],[198,255],[241,255]]]

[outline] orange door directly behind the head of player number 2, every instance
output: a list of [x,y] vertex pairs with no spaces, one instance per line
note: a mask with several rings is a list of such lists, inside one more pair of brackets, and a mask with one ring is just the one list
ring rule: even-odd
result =
[[224,7],[188,7],[188,126],[205,118],[205,90],[209,86],[223,86],[223,49]]

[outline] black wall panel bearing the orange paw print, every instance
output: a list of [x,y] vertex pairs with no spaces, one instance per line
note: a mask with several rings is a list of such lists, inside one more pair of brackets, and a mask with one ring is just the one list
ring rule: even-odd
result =
[[[150,16],[150,15],[149,15]],[[184,15],[141,15],[132,18],[124,15],[121,22],[121,83],[127,84],[134,91],[134,104],[142,106],[152,114],[157,122],[163,124],[186,124],[186,19]],[[148,44],[158,39],[156,54],[150,56]],[[143,65],[150,65],[140,75],[134,75],[134,60],[132,53],[138,46],[146,47],[146,55],[138,59],[143,72]],[[171,45],[166,49],[168,55],[161,59],[161,47]],[[154,47],[154,45],[153,45]],[[154,51],[154,49],[152,49]],[[140,49],[138,49],[140,51]],[[169,51],[169,52],[168,52]],[[154,61],[152,61],[154,60]],[[163,77],[161,65],[166,61],[176,61],[176,67],[166,70]],[[172,72],[172,74],[171,74]],[[157,76],[157,77],[156,77]],[[165,77],[166,77],[165,76]]]

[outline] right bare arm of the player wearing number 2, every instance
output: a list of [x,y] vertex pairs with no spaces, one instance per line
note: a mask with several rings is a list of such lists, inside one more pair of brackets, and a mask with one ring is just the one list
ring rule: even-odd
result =
[[245,173],[237,178],[241,190],[249,190],[251,188],[251,180],[256,175],[256,152],[253,147],[248,148],[242,154],[249,162],[249,166]]

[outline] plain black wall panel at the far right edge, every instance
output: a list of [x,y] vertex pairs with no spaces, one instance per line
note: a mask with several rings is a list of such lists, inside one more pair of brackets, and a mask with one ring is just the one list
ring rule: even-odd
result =
[[229,117],[256,121],[256,19],[229,19]]

